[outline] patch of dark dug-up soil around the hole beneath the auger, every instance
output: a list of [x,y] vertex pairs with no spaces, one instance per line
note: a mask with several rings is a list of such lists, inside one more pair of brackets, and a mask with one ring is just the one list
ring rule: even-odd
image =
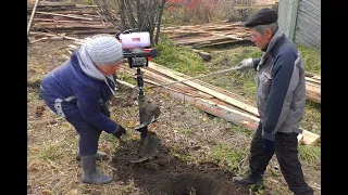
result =
[[[219,170],[212,162],[187,165],[170,157],[170,148],[161,146],[159,154],[145,162],[132,164],[137,142],[122,145],[113,158],[116,180],[134,179],[137,186],[148,194],[157,195],[243,195],[246,188],[232,183],[233,174]],[[132,157],[129,157],[132,156]]]

